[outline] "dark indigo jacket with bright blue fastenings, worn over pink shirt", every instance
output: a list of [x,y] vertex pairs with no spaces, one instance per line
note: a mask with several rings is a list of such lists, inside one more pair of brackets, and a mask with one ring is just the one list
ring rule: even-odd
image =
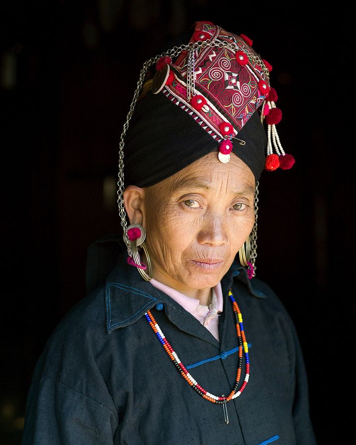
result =
[[[144,281],[125,249],[106,280],[60,321],[34,371],[24,445],[314,445],[301,348],[271,289],[233,263],[222,279],[219,343],[172,298]],[[180,375],[144,313],[149,309],[195,380],[227,396],[238,353],[231,288],[249,344],[250,380],[223,405]],[[242,377],[245,375],[243,360]]]

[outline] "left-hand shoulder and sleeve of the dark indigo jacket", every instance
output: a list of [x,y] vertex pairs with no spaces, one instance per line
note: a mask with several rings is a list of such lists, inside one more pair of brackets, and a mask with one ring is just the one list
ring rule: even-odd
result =
[[101,286],[58,323],[29,389],[23,445],[110,444],[118,413],[98,367],[108,334]]

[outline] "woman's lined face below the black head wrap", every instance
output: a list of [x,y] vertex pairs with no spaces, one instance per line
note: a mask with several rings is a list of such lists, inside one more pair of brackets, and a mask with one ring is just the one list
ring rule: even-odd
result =
[[154,278],[180,291],[215,286],[253,228],[254,194],[246,164],[234,154],[223,164],[216,153],[144,188]]

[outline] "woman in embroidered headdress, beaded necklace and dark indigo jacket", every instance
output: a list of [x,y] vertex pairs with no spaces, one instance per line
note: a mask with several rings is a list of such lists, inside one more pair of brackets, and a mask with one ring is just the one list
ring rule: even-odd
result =
[[46,345],[24,444],[315,444],[293,323],[253,278],[258,180],[294,162],[270,69],[210,22],[144,64],[120,143],[122,247]]

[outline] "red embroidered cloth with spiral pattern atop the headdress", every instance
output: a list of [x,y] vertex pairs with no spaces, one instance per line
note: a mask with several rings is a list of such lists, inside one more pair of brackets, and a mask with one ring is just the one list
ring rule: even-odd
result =
[[[251,57],[259,55],[241,37],[210,23],[197,22],[193,36],[195,38],[192,37],[190,42],[195,42],[196,36],[199,36],[202,41],[209,39],[217,44],[231,42],[238,45],[238,49],[207,46],[195,50],[195,92],[207,102],[200,110],[194,108],[194,101],[187,102],[187,51],[182,51],[176,62],[170,65],[175,80],[162,92],[217,141],[223,139],[223,122],[232,125],[235,136],[263,104],[265,94],[259,90],[259,82],[263,80],[269,86],[262,66]],[[235,55],[237,51],[250,54],[249,63],[240,65]]]

